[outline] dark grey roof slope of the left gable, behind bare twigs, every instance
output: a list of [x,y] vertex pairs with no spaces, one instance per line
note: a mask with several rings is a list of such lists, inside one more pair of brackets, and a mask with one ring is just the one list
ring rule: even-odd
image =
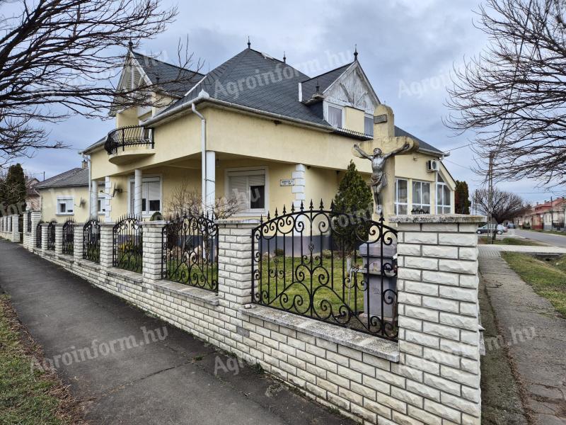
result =
[[154,57],[141,55],[138,52],[132,52],[132,55],[144,69],[152,84],[159,84],[163,91],[180,98],[185,96],[185,93],[204,77],[204,74],[200,74],[200,72],[177,67]]

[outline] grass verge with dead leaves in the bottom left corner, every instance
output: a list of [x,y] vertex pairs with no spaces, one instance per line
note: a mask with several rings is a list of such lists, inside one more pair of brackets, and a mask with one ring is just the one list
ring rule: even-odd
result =
[[[37,363],[34,363],[34,359]],[[54,373],[32,368],[42,351],[0,295],[0,424],[85,424],[67,387]]]

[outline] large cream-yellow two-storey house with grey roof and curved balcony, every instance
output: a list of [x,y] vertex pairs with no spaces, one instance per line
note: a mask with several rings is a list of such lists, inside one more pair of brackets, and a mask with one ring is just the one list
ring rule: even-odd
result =
[[[130,50],[120,87],[158,83],[179,71]],[[455,182],[441,162],[444,153],[395,126],[357,53],[350,64],[311,78],[248,48],[206,75],[195,74],[187,86],[161,87],[148,94],[160,107],[120,110],[117,98],[115,130],[81,152],[90,159],[93,196],[104,193],[106,221],[126,213],[167,214],[183,182],[205,194],[207,209],[216,198],[236,196],[240,217],[299,208],[311,199],[330,208],[351,159],[369,181],[371,164],[354,157],[354,143],[368,153],[405,142],[415,147],[388,161],[386,217],[413,208],[454,212]],[[91,203],[91,214],[100,211]]]

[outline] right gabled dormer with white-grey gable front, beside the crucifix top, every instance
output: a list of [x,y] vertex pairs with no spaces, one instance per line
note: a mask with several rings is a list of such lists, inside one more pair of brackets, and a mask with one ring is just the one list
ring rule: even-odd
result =
[[335,128],[374,134],[380,101],[357,60],[301,82],[299,100]]

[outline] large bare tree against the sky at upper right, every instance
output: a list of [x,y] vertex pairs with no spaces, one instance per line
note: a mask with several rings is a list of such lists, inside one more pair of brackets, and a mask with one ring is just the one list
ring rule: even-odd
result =
[[478,28],[490,44],[449,89],[448,125],[473,130],[473,149],[494,152],[499,180],[565,183],[566,37],[564,0],[487,0]]

